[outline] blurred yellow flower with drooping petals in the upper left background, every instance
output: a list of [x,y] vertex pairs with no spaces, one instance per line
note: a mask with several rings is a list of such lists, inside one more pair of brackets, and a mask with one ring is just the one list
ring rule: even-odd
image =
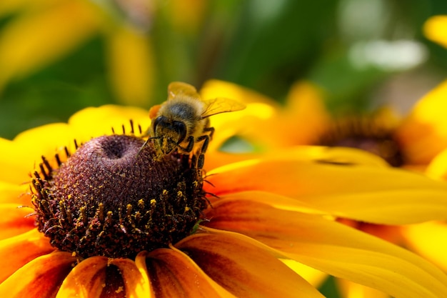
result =
[[151,26],[166,10],[171,15],[167,18],[175,21],[175,30],[191,34],[199,26],[205,2],[188,4],[151,0],[1,1],[0,17],[11,19],[0,31],[0,92],[10,81],[34,74],[101,36],[105,75],[116,99],[148,106],[158,67]]

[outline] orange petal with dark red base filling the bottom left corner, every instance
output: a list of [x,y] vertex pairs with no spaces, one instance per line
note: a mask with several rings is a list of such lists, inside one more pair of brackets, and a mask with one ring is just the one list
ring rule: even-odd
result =
[[38,257],[0,284],[0,297],[54,297],[75,262],[69,252]]

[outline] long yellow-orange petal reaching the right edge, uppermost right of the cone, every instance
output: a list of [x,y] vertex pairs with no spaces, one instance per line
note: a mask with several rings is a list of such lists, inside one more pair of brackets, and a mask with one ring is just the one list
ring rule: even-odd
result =
[[411,224],[447,217],[447,184],[370,164],[337,165],[298,157],[255,159],[214,169],[206,180],[210,182],[204,185],[206,192],[219,197],[271,192],[299,200],[298,207],[304,203],[363,222]]

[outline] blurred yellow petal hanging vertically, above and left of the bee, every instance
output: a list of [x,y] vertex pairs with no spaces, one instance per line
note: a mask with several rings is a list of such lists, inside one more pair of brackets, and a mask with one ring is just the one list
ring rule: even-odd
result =
[[107,39],[109,76],[118,99],[147,106],[153,89],[155,64],[149,38],[130,28],[114,28]]

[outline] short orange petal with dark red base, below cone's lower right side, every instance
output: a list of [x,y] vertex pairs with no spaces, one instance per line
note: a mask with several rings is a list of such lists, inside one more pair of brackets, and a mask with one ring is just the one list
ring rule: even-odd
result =
[[156,249],[140,254],[137,266],[149,275],[154,297],[228,297],[233,295],[216,284],[183,252]]

